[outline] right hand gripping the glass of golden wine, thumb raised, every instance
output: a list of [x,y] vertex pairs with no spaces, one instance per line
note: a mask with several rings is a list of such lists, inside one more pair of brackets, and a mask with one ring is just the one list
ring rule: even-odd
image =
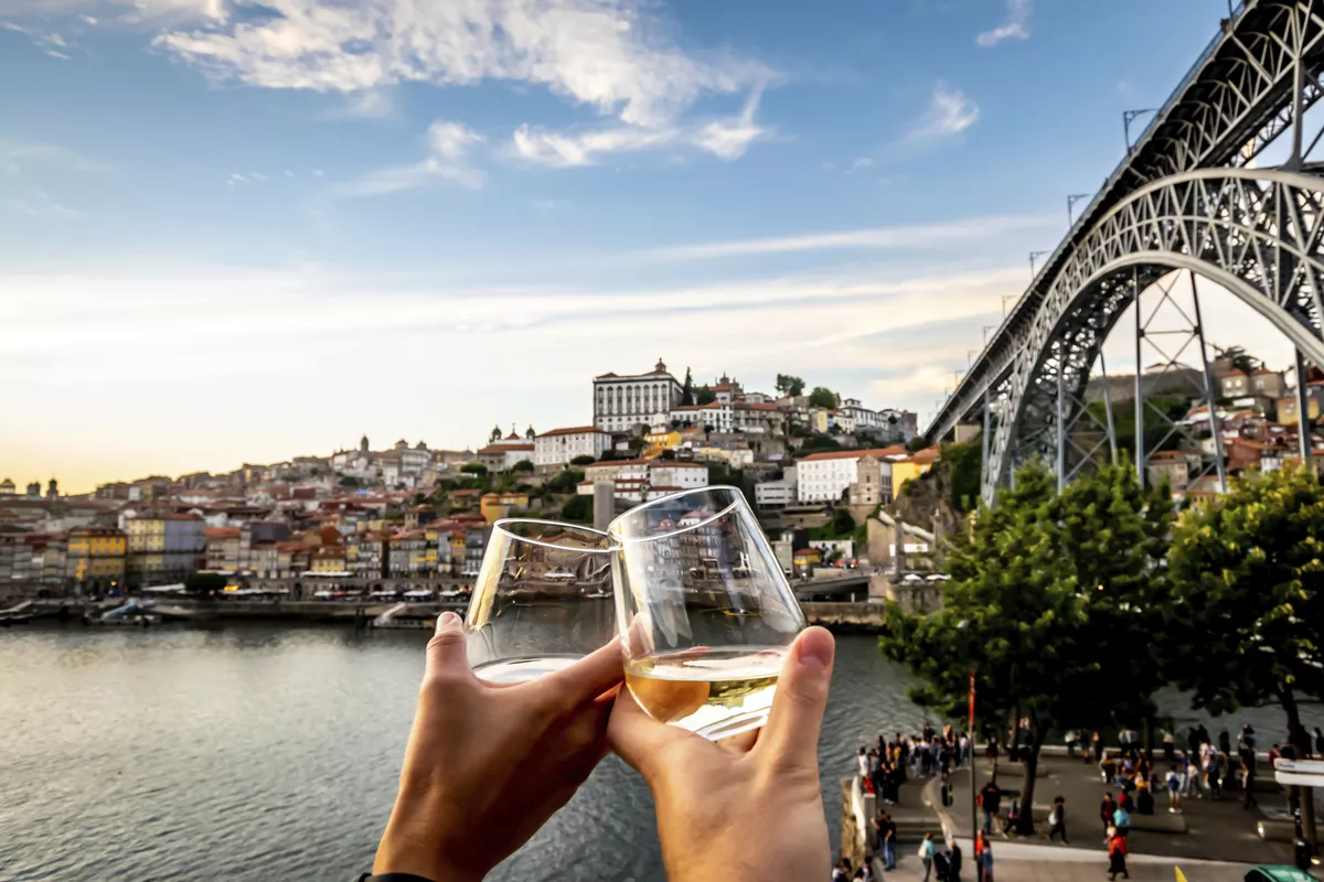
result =
[[818,731],[834,651],[828,631],[800,633],[768,723],[716,743],[657,722],[628,689],[617,693],[608,739],[653,791],[670,882],[828,878]]

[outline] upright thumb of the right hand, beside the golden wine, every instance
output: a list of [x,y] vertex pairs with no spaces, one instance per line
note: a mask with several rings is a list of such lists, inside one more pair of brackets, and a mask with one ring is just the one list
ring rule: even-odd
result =
[[756,752],[771,754],[773,762],[784,766],[818,767],[818,733],[835,652],[831,633],[825,628],[806,628],[790,644]]

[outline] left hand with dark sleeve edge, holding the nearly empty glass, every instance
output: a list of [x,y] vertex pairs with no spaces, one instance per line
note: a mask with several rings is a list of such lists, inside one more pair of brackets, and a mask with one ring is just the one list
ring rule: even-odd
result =
[[477,882],[565,805],[606,754],[618,641],[522,684],[483,682],[463,623],[437,619],[373,873]]

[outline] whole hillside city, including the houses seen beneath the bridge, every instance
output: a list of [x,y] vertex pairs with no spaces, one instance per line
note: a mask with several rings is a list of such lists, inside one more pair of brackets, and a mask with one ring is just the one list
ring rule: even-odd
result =
[[[1284,373],[1239,350],[1210,366],[1229,472],[1272,471],[1299,458],[1298,399]],[[1147,443],[1158,448],[1148,480],[1192,501],[1218,492],[1206,465],[1209,403],[1190,391],[1200,378],[1192,368],[1157,365],[1141,376],[1147,399],[1169,418],[1147,424]],[[1132,381],[1113,377],[1108,386],[1123,447],[1135,435],[1132,411],[1120,406]],[[1092,410],[1102,413],[1103,395],[1091,383]],[[1324,376],[1307,376],[1305,401],[1317,419]],[[688,372],[678,380],[659,360],[646,373],[594,377],[589,423],[494,427],[473,450],[406,440],[373,450],[363,438],[330,455],[113,481],[78,496],[61,495],[56,479],[20,492],[7,477],[0,599],[106,596],[179,584],[195,573],[218,574],[232,591],[261,586],[301,598],[383,581],[436,591],[473,581],[502,517],[592,522],[593,488],[604,481],[618,512],[733,484],[755,504],[788,573],[871,563],[900,574],[924,565],[953,513],[970,510],[977,495],[978,427],[963,427],[964,443],[948,446],[945,463],[944,450],[924,447],[918,430],[911,411],[873,410],[824,387],[806,391],[797,377],[779,374],[775,394],[765,394],[727,376],[703,385]],[[1086,430],[1075,432],[1084,448]],[[1313,444],[1324,452],[1324,440]],[[939,463],[935,488],[899,505],[907,484]]]

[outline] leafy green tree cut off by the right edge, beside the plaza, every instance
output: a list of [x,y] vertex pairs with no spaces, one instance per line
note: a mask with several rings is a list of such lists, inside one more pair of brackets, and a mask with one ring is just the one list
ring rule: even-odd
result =
[[[1279,703],[1296,755],[1311,752],[1299,698],[1324,697],[1324,489],[1309,471],[1238,481],[1185,512],[1169,555],[1172,680],[1196,707]],[[1301,822],[1315,841],[1313,799]]]

